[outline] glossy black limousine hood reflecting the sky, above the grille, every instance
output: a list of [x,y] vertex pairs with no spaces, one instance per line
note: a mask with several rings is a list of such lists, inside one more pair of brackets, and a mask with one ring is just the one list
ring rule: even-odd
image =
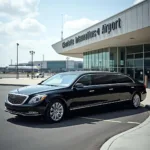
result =
[[48,92],[48,91],[62,89],[62,88],[64,88],[64,87],[47,86],[47,85],[33,85],[33,86],[25,86],[25,87],[22,87],[22,88],[18,88],[16,90],[11,91],[10,93],[31,95],[31,94]]

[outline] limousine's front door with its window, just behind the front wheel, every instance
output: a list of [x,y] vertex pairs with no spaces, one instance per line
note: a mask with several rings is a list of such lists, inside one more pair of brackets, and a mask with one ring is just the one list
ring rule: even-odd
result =
[[[70,100],[70,108],[76,109],[91,104],[94,95],[94,88],[91,86],[91,74],[82,75],[74,84],[72,98]],[[76,87],[81,84],[83,86]]]

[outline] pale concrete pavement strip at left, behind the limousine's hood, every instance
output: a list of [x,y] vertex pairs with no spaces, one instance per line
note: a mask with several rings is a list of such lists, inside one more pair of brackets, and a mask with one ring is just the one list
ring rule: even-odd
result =
[[10,85],[10,86],[26,86],[35,85],[45,80],[46,78],[2,78],[0,79],[0,85]]

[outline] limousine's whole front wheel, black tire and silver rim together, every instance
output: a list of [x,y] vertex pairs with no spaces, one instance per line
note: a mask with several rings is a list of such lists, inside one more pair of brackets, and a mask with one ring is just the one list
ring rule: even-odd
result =
[[45,120],[49,123],[60,122],[65,115],[65,106],[59,99],[52,100],[46,109]]

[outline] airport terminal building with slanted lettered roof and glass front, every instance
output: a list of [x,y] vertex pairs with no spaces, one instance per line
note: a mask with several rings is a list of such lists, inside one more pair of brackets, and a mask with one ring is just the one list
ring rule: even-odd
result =
[[62,55],[83,58],[84,70],[122,72],[150,79],[150,0],[52,45]]

